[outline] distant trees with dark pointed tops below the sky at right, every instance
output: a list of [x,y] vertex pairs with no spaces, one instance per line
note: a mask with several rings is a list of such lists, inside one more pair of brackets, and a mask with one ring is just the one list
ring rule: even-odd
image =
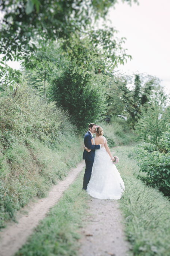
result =
[[160,83],[158,78],[142,74],[134,76],[114,73],[106,84],[107,114],[109,117],[123,115],[134,128],[140,118],[141,108],[148,103],[154,89]]

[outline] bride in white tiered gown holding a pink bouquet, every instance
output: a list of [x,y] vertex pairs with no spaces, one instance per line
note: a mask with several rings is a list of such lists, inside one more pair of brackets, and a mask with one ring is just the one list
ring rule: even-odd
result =
[[[95,150],[92,176],[87,186],[87,193],[98,199],[120,199],[124,190],[124,182],[116,166],[112,163],[112,154],[103,135],[103,129],[96,127],[96,138],[92,139],[93,145],[104,143],[104,147]],[[86,151],[90,149],[84,146]]]

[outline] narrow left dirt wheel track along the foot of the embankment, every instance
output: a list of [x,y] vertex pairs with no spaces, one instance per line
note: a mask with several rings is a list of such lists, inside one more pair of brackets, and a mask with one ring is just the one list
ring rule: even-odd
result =
[[0,233],[0,256],[12,256],[25,244],[38,222],[59,201],[62,193],[77,178],[84,166],[85,161],[79,163],[77,168],[71,170],[65,180],[59,181],[57,185],[53,186],[47,198],[39,199],[37,203],[30,204],[27,215],[22,216],[18,223],[13,223]]

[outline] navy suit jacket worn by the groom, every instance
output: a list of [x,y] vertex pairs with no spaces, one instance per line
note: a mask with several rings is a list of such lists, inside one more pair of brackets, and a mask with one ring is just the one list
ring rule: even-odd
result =
[[93,136],[91,135],[91,133],[88,131],[85,136],[84,136],[84,145],[91,149],[90,152],[87,152],[86,150],[84,150],[83,152],[83,159],[93,162],[95,159],[95,149],[100,149],[100,145],[92,145],[92,141],[91,139],[93,138]]

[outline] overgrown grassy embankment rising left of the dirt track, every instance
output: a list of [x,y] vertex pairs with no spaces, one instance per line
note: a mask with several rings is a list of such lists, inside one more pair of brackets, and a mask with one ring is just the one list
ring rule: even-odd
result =
[[28,87],[0,98],[0,227],[31,198],[45,196],[82,157],[68,114]]

